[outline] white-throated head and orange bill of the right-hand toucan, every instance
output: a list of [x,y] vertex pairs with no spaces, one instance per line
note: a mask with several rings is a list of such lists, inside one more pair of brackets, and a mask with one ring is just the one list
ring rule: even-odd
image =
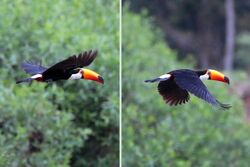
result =
[[227,84],[230,83],[228,77],[226,77],[221,72],[216,71],[216,70],[212,70],[212,69],[205,70],[203,74],[200,73],[200,79],[221,81],[221,82],[225,82]]

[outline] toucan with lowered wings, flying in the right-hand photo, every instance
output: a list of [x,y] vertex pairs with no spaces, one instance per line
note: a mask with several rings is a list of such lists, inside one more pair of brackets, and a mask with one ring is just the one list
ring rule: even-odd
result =
[[201,80],[216,80],[229,84],[228,77],[211,69],[202,71],[174,70],[145,82],[159,82],[158,91],[164,101],[170,106],[186,103],[190,99],[190,92],[214,106],[219,106],[223,109],[231,107],[216,100]]

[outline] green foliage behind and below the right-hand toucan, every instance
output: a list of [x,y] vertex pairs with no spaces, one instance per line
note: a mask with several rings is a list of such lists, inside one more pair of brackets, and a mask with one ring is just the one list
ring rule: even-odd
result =
[[145,14],[123,10],[123,166],[248,166],[249,126],[238,98],[227,85],[207,81],[232,109],[219,110],[194,96],[186,105],[166,105],[157,84],[143,81],[192,68],[192,62],[176,61]]

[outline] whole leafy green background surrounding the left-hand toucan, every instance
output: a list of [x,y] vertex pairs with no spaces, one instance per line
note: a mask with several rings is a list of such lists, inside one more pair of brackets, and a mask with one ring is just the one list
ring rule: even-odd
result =
[[[0,166],[118,166],[118,30],[119,1],[0,1]],[[24,60],[90,49],[104,85],[15,84]]]

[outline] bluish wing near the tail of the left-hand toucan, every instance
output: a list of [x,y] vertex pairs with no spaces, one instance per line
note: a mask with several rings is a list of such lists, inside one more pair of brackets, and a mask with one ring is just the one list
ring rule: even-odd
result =
[[31,75],[41,74],[47,70],[47,68],[43,67],[40,62],[36,61],[26,61],[23,62],[21,66],[26,73]]

